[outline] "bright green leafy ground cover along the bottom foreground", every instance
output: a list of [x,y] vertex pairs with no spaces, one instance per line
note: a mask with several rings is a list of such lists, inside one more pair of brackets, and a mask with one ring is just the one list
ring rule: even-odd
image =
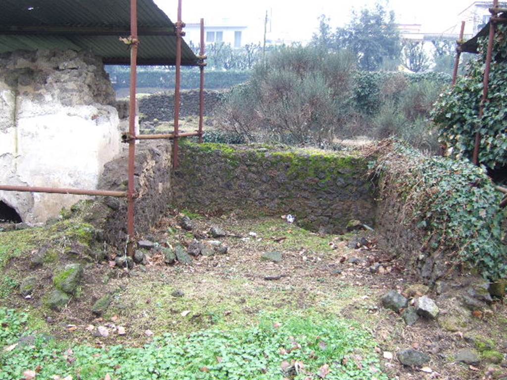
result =
[[[23,313],[0,309],[0,347],[27,333],[26,320]],[[0,379],[21,378],[24,370],[38,368],[38,380],[54,375],[97,380],[106,374],[122,380],[279,380],[286,375],[284,361],[303,364],[295,379],[318,378],[323,365],[330,366],[330,380],[387,379],[374,347],[372,336],[349,321],[265,315],[253,327],[166,334],[142,348],[77,345],[65,353],[68,346],[38,337],[34,347],[0,353]]]

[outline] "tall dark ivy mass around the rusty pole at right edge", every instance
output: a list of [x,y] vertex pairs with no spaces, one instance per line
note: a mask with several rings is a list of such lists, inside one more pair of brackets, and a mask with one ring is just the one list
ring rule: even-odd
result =
[[471,159],[475,134],[481,133],[479,161],[491,169],[507,165],[507,26],[498,25],[493,45],[488,102],[479,118],[488,39],[479,40],[479,55],[470,60],[456,86],[443,93],[432,117],[440,141],[455,158]]

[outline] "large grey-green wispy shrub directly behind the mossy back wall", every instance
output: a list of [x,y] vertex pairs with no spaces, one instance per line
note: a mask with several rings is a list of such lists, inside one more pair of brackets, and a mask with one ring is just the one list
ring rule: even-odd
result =
[[353,58],[284,47],[233,89],[222,112],[229,130],[250,140],[330,143],[348,113]]

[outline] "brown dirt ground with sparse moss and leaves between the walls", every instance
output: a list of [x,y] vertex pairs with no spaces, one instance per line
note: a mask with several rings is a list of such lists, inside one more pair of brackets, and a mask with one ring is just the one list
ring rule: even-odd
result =
[[[493,339],[499,351],[507,352],[505,306],[497,302],[492,317],[476,318],[462,331],[448,331],[436,321],[422,318],[407,326],[400,315],[383,309],[379,299],[391,289],[404,292],[417,280],[405,273],[403,262],[377,247],[374,232],[359,232],[368,243],[353,249],[347,246],[353,233],[321,236],[281,217],[191,215],[194,229],[188,232],[178,226],[181,215],[174,211],[151,236],[144,238],[171,246],[178,242],[188,245],[195,237],[220,240],[228,246],[228,253],[193,257],[191,265],[166,265],[161,254],[152,250],[147,265],[136,265],[128,271],[113,269],[111,262],[92,263],[85,271],[79,301],[70,302],[62,313],[41,308],[37,292],[33,299],[18,297],[9,303],[31,310],[41,326],[54,336],[96,346],[141,346],[152,339],[152,333],[255,325],[262,313],[280,313],[281,319],[292,314],[331,315],[357,321],[371,332],[383,371],[390,378],[458,380],[507,376],[507,369],[501,365],[465,365],[453,359],[458,349],[473,348],[470,336],[477,335]],[[212,225],[222,227],[227,236],[208,238]],[[281,253],[281,262],[261,259],[272,251]],[[24,260],[13,260],[9,270],[22,266]],[[382,269],[371,273],[369,267],[375,263],[380,263]],[[42,278],[51,281],[50,273]],[[113,294],[112,304],[102,317],[96,318],[90,306],[107,292]],[[432,297],[431,293],[428,295]],[[122,326],[126,333],[100,336],[98,325],[111,330]],[[429,354],[431,361],[424,371],[404,367],[396,359],[397,352],[408,348]],[[495,375],[489,376],[493,372]]]

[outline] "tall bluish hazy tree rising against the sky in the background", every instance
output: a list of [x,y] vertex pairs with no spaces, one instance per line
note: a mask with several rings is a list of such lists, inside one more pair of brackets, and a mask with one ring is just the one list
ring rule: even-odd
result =
[[350,24],[336,29],[336,47],[351,50],[360,68],[374,71],[385,59],[400,58],[400,33],[394,12],[387,12],[377,3],[373,10],[361,9],[359,15],[353,11],[351,19]]

